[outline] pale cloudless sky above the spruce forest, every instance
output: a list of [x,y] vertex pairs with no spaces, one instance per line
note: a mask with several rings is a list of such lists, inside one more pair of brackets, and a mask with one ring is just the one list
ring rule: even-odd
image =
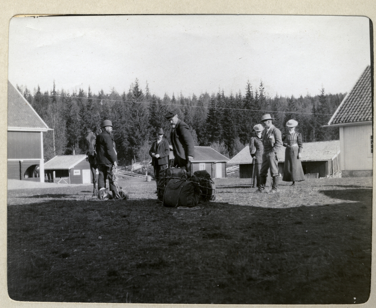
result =
[[370,65],[367,17],[121,15],[14,17],[8,78],[33,93],[128,91],[163,97],[253,90],[349,92]]

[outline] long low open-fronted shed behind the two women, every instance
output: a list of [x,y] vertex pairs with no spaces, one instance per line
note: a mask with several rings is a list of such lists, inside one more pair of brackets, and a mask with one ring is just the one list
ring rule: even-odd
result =
[[[280,149],[278,168],[280,176],[284,173],[285,147]],[[303,144],[302,167],[304,174],[318,173],[319,178],[338,171],[340,159],[340,141],[318,141]],[[239,164],[239,177],[252,178],[252,157],[249,146],[235,155],[227,164]]]

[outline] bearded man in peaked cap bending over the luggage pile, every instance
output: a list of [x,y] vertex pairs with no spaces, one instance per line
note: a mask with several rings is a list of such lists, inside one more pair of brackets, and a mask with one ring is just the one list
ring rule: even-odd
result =
[[190,170],[194,155],[194,141],[189,126],[179,120],[177,111],[173,110],[166,114],[165,119],[172,126],[171,144],[174,151],[174,167]]

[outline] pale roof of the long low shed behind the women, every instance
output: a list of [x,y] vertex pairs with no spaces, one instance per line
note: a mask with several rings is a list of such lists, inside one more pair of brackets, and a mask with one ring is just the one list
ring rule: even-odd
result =
[[[279,162],[285,161],[285,147],[278,153]],[[317,141],[303,143],[302,161],[327,161],[333,159],[340,152],[340,141]],[[249,153],[249,146],[246,146],[235,155],[227,164],[252,164],[252,157]]]

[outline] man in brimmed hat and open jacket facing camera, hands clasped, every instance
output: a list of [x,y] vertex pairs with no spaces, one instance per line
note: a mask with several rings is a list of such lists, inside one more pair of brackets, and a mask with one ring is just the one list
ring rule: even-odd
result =
[[170,154],[170,144],[163,138],[164,132],[160,128],[157,132],[157,140],[153,142],[149,155],[152,156],[152,166],[154,167],[154,177],[159,186],[159,179],[164,177],[165,169],[168,166],[168,155]]

